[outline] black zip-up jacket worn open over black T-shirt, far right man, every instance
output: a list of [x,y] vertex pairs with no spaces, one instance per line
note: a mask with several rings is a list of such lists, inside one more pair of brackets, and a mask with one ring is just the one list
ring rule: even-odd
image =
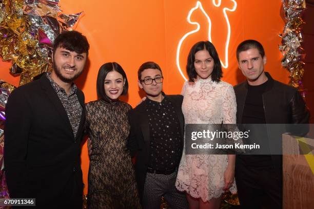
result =
[[[263,105],[267,124],[308,124],[309,111],[298,90],[292,86],[273,80],[268,72],[265,72],[269,84],[263,93]],[[242,123],[244,103],[248,91],[247,81],[234,86],[237,98],[237,123]],[[307,130],[294,133],[298,136],[307,134]],[[267,132],[268,138],[273,138],[271,130]],[[281,144],[281,143],[280,143]],[[271,149],[271,147],[270,147]],[[272,155],[274,167],[282,167],[281,155]]]

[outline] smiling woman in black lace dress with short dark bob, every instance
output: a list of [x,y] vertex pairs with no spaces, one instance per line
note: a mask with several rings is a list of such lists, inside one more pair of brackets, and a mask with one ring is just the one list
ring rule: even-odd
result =
[[89,136],[88,208],[141,208],[129,151],[126,149],[131,106],[119,100],[128,80],[117,63],[106,63],[97,75],[100,100],[86,104]]

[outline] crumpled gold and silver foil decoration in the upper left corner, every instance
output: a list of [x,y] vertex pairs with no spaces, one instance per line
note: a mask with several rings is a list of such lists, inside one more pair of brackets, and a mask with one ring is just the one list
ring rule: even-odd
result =
[[65,14],[59,0],[0,0],[0,57],[12,62],[10,72],[21,75],[19,85],[52,68],[55,37],[73,30],[83,12]]

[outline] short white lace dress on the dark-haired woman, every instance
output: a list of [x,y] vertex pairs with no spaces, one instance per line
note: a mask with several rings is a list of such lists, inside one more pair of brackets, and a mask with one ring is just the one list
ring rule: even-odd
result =
[[[185,82],[182,95],[186,124],[235,124],[237,103],[230,84],[198,79],[194,84]],[[224,193],[227,164],[227,155],[185,155],[184,146],[175,186],[204,202],[218,198]],[[230,191],[237,192],[235,182]]]

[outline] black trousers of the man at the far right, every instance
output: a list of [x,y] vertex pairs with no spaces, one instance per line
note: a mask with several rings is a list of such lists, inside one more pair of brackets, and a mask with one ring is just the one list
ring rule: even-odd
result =
[[237,160],[235,183],[241,208],[282,208],[281,168],[252,167]]

